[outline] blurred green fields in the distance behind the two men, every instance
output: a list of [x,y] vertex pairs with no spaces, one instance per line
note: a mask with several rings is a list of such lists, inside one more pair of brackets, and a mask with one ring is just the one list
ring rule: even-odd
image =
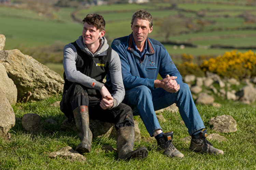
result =
[[[81,35],[82,22],[73,21],[72,12],[76,12],[76,18],[81,20],[88,13],[99,13],[106,20],[106,37],[109,44],[114,38],[131,33],[130,21],[134,12],[146,9],[153,15],[154,28],[149,37],[159,41],[172,40],[189,42],[195,45],[211,46],[215,44],[233,45],[237,47],[256,46],[255,30],[239,30],[245,27],[256,27],[256,23],[245,23],[240,14],[248,12],[256,15],[256,7],[245,5],[247,2],[238,1],[207,1],[201,0],[191,3],[176,2],[176,9],[171,9],[172,3],[147,3],[147,4],[112,4],[93,6],[83,10],[75,8],[56,8],[50,16],[40,15],[28,9],[0,6],[0,34],[6,36],[4,49],[42,48],[54,43],[67,44]],[[54,8],[53,8],[54,9]],[[180,10],[180,11],[179,11]],[[198,16],[196,12],[204,10],[204,16]],[[194,12],[193,12],[194,11]],[[184,22],[169,24],[163,28],[163,24],[169,17],[178,17]],[[228,16],[228,17],[224,17]],[[189,23],[186,23],[189,22]],[[166,38],[166,30],[173,29],[171,35]],[[181,33],[179,31],[186,32]],[[174,35],[172,35],[174,34]],[[166,46],[170,55],[188,53],[193,55],[218,55],[230,49],[203,49],[187,48],[174,50],[172,46]],[[246,50],[239,50],[246,51]],[[37,56],[34,56],[37,58]],[[61,56],[56,56],[61,57]],[[59,61],[59,60],[58,60]],[[47,61],[48,62],[48,61]]]

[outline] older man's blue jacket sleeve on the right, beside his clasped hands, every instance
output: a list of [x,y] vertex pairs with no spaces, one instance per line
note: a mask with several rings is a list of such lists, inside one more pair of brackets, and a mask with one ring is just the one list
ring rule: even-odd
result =
[[160,61],[160,68],[159,68],[159,74],[162,78],[165,78],[167,74],[170,76],[176,76],[177,83],[181,84],[182,77],[176,66],[174,65],[169,53],[165,49],[161,55],[161,61]]

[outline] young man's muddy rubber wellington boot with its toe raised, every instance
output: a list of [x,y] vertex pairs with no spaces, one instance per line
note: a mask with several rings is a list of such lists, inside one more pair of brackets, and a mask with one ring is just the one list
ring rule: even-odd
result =
[[125,126],[119,128],[116,132],[116,148],[119,159],[129,160],[131,158],[146,158],[147,148],[140,147],[133,151],[134,145],[134,127]]

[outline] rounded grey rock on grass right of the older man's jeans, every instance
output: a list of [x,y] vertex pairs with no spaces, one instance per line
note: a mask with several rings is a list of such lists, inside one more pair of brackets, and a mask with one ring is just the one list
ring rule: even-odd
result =
[[237,131],[237,122],[230,115],[212,117],[209,120],[209,124],[213,126],[213,130],[216,132],[229,133]]

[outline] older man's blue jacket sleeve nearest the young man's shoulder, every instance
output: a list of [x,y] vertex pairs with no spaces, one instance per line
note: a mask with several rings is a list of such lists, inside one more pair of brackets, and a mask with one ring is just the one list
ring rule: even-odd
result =
[[[131,66],[129,64],[128,58],[127,58],[127,50],[125,47],[120,45],[120,43],[114,43],[112,42],[111,48],[115,50],[121,61],[122,66],[122,76],[123,76],[123,82],[126,89],[130,89],[133,87],[145,85],[150,89],[154,89],[154,79],[147,79],[147,78],[140,78],[139,72],[138,76],[134,76],[131,74]],[[136,69],[136,68],[133,68]]]

